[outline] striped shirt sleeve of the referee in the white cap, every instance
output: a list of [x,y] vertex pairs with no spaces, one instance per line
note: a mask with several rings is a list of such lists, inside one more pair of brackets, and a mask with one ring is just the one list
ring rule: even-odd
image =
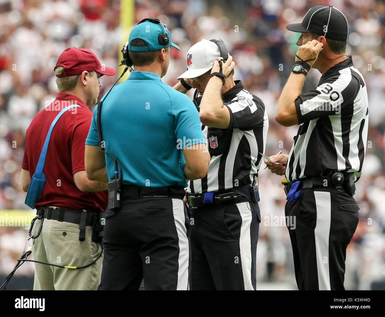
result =
[[248,95],[224,104],[230,112],[228,129],[251,130],[263,126],[265,106],[258,97]]

